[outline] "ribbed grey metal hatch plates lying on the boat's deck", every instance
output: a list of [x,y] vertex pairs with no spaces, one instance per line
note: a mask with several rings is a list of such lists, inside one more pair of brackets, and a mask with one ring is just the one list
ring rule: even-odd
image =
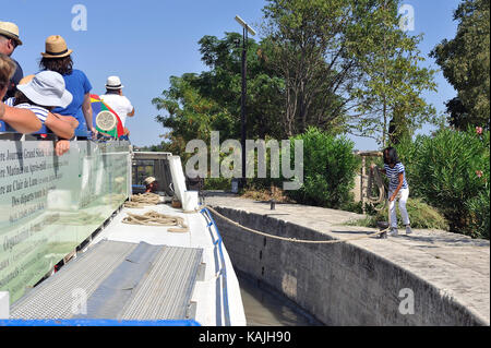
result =
[[14,303],[11,319],[188,319],[202,254],[103,240]]

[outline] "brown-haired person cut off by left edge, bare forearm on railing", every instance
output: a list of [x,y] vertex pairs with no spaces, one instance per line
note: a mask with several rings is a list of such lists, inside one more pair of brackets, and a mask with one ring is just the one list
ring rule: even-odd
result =
[[[0,100],[7,94],[14,72],[15,63],[8,56],[0,53]],[[37,132],[43,125],[31,110],[13,108],[2,101],[0,101],[0,121],[9,123],[14,130],[24,134]],[[0,128],[0,132],[2,131],[5,130]]]

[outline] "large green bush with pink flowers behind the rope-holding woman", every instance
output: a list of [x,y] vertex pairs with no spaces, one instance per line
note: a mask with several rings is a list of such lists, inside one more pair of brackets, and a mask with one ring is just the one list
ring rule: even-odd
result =
[[489,196],[489,131],[477,134],[474,129],[445,129],[397,145],[411,195],[438,208],[451,231],[489,236],[483,229],[487,214],[489,220],[489,197],[486,202],[484,196],[486,192]]

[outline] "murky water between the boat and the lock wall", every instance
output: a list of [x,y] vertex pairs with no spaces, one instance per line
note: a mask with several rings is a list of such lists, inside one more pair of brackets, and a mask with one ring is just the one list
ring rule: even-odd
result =
[[248,326],[312,326],[322,325],[283,295],[259,286],[253,280],[238,274],[240,292]]

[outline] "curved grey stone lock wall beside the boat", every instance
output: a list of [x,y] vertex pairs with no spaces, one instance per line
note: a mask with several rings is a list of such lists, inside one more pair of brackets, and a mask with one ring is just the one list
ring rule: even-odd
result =
[[[271,235],[330,238],[275,217],[214,208],[242,226]],[[326,325],[486,325],[423,279],[362,248],[282,241],[214,218],[237,271],[284,293]],[[415,293],[414,314],[399,311],[407,299],[400,295],[405,288]]]

